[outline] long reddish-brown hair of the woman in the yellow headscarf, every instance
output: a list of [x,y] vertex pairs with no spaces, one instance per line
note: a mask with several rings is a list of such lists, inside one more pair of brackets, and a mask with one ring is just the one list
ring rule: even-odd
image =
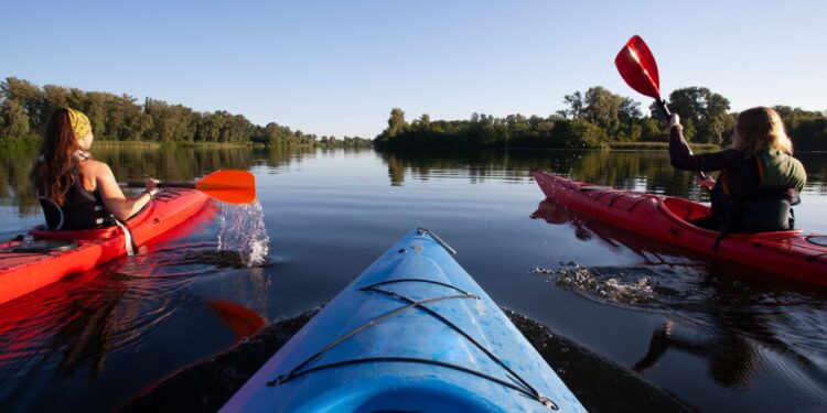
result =
[[46,123],[40,156],[30,177],[35,191],[55,204],[63,206],[66,192],[77,181],[78,161],[73,156],[77,140],[66,108],[52,113]]

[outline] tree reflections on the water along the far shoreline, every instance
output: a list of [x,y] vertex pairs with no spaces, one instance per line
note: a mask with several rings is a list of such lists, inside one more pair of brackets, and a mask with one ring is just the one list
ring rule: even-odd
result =
[[[312,148],[93,148],[94,156],[109,164],[121,181],[143,176],[190,181],[215,170],[249,170],[258,165],[272,172],[341,152]],[[708,200],[707,194],[695,184],[695,174],[672,167],[668,155],[660,151],[406,151],[380,152],[379,156],[393,186],[404,185],[406,178],[428,181],[432,176],[455,175],[457,171],[466,171],[471,183],[494,178],[525,182],[529,171],[540,167],[595,185]],[[35,157],[36,150],[11,150],[0,154],[0,206],[15,207],[21,217],[40,213],[29,184],[29,171]],[[827,162],[821,154],[802,153],[798,157],[808,172],[806,191],[827,194]]]

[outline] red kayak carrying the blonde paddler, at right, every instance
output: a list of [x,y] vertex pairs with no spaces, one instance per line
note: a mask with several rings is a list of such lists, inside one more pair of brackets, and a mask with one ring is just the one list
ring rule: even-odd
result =
[[689,248],[775,275],[827,285],[827,236],[801,230],[730,233],[691,222],[709,219],[709,207],[683,198],[619,191],[567,180],[543,171],[534,177],[547,197],[660,242]]

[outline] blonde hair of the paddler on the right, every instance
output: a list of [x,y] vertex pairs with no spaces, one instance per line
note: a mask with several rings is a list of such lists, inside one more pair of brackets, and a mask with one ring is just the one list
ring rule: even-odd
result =
[[787,137],[784,120],[773,109],[763,106],[747,109],[738,115],[734,149],[756,154],[765,146],[793,154],[793,142]]

